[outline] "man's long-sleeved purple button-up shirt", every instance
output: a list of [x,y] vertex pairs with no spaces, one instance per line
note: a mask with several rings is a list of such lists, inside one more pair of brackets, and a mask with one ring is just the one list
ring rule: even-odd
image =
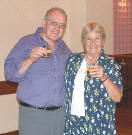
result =
[[40,58],[24,74],[19,74],[23,59],[32,48],[47,44],[40,37],[42,28],[20,39],[5,60],[5,75],[9,81],[18,82],[17,97],[35,106],[60,106],[65,103],[64,70],[71,53],[59,39],[50,58]]

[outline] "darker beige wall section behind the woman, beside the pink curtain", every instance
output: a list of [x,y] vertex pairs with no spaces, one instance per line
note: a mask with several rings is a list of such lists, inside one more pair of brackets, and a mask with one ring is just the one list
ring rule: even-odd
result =
[[86,0],[87,21],[98,22],[106,31],[104,45],[107,54],[113,54],[113,0]]

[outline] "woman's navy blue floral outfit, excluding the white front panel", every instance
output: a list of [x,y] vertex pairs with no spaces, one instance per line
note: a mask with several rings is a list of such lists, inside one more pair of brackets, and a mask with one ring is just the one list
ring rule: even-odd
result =
[[[66,124],[64,135],[116,135],[115,102],[109,97],[99,78],[86,75],[84,80],[85,116],[71,115],[74,79],[84,59],[85,52],[71,54],[65,70]],[[120,66],[104,54],[97,61],[107,76],[122,89]]]

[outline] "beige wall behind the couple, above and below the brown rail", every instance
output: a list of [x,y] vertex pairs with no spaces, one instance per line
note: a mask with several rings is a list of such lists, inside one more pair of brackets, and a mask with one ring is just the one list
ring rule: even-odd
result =
[[[68,24],[65,42],[73,52],[82,51],[82,26],[96,21],[107,33],[105,51],[113,52],[112,0],[0,0],[0,81],[4,78],[4,60],[14,44],[41,25],[45,11],[53,6],[64,8]],[[16,95],[0,96],[0,133],[18,128]]]

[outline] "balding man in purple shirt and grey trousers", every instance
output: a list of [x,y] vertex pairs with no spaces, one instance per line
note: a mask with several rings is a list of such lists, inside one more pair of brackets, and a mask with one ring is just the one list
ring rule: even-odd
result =
[[63,134],[64,68],[71,52],[61,39],[66,21],[63,9],[49,9],[42,27],[21,38],[5,60],[7,79],[18,82],[19,135]]

